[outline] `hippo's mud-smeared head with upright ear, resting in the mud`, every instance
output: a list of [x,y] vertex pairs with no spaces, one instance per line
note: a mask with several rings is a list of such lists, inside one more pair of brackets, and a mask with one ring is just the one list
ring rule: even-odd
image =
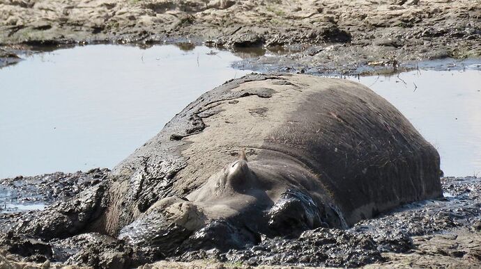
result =
[[[272,163],[248,162],[243,150],[238,155],[187,197],[153,204],[119,237],[141,245],[168,244],[168,251],[178,245],[227,250],[257,243],[262,235],[291,236],[326,225],[319,202],[285,176],[295,168],[283,173]],[[174,237],[182,242],[172,244]]]

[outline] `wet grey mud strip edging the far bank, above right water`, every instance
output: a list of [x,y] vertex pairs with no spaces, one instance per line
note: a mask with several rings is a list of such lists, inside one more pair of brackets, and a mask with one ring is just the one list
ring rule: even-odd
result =
[[[373,76],[378,74],[390,76],[413,70],[464,71],[481,69],[479,56],[457,59],[446,55],[425,60],[420,60],[419,58],[400,60],[386,56],[386,58],[378,60],[356,61],[351,58],[344,58],[344,54],[331,52],[335,47],[339,46],[326,44],[321,47],[308,46],[299,51],[284,52],[267,49],[258,57],[245,57],[243,60],[234,62],[232,66],[241,70],[247,69],[255,72],[289,72],[341,77]],[[344,47],[341,46],[340,48]],[[321,51],[323,51],[323,54],[332,55],[322,55]],[[345,54],[351,53],[360,54],[357,51],[349,51]],[[373,49],[372,53],[376,53],[376,49]],[[362,56],[361,58],[367,58],[367,56]]]

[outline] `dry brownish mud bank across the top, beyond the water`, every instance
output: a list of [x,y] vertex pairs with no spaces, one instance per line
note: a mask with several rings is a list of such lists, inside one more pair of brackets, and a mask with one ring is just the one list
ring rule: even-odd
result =
[[[0,1],[0,44],[190,42],[268,49],[243,65],[359,74],[481,54],[478,0]],[[12,52],[7,52],[11,54]],[[1,65],[9,60],[3,54]]]

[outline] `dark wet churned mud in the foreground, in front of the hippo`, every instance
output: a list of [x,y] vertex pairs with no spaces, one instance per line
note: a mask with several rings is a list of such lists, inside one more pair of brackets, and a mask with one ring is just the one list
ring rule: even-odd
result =
[[[84,178],[102,174],[102,170],[89,172]],[[50,179],[66,179],[64,174],[51,174]],[[23,179],[12,186],[14,190],[29,189],[30,180]],[[39,186],[40,193],[61,192],[66,184],[51,181]],[[40,240],[18,234],[0,236],[3,250],[10,252],[10,259],[51,261],[58,264],[93,266],[95,268],[121,268],[152,263],[158,259],[170,261],[220,261],[244,266],[336,266],[358,267],[369,264],[402,266],[409,260],[414,266],[425,259],[438,260],[438,266],[462,265],[469,259],[473,266],[481,264],[481,247],[466,247],[467,238],[472,242],[480,239],[481,230],[481,179],[475,177],[443,178],[444,197],[406,204],[395,211],[383,213],[371,220],[358,222],[350,229],[317,228],[305,231],[298,238],[262,238],[258,245],[241,250],[177,250],[171,256],[143,247],[125,245],[116,238],[86,232],[66,239]],[[101,186],[100,181],[91,184]],[[82,188],[82,183],[70,188]],[[88,195],[87,195],[88,196]],[[42,196],[44,204],[53,202]],[[40,198],[40,197],[39,197]],[[75,203],[74,203],[75,204]],[[32,212],[34,213],[34,212]],[[7,227],[18,213],[1,213],[1,227]],[[29,213],[26,213],[29,214]],[[34,215],[34,214],[33,214]],[[39,223],[52,226],[52,223]],[[222,237],[222,234],[217,236]],[[455,239],[459,236],[459,240]],[[464,238],[464,239],[463,239]],[[466,239],[466,240],[465,240]],[[466,241],[466,242],[464,242]],[[427,244],[429,243],[429,244]],[[433,252],[433,247],[437,248]],[[447,245],[448,244],[448,245]],[[429,249],[425,249],[429,247]],[[424,252],[424,255],[419,253]],[[403,259],[399,259],[399,256]],[[411,258],[411,259],[410,259]]]

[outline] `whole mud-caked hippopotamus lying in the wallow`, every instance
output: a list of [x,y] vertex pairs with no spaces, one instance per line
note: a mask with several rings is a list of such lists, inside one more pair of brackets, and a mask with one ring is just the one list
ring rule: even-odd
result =
[[100,187],[75,198],[88,206],[41,216],[62,229],[22,231],[96,231],[164,255],[225,251],[266,236],[345,229],[439,197],[439,165],[406,117],[360,83],[250,74],[184,108]]

